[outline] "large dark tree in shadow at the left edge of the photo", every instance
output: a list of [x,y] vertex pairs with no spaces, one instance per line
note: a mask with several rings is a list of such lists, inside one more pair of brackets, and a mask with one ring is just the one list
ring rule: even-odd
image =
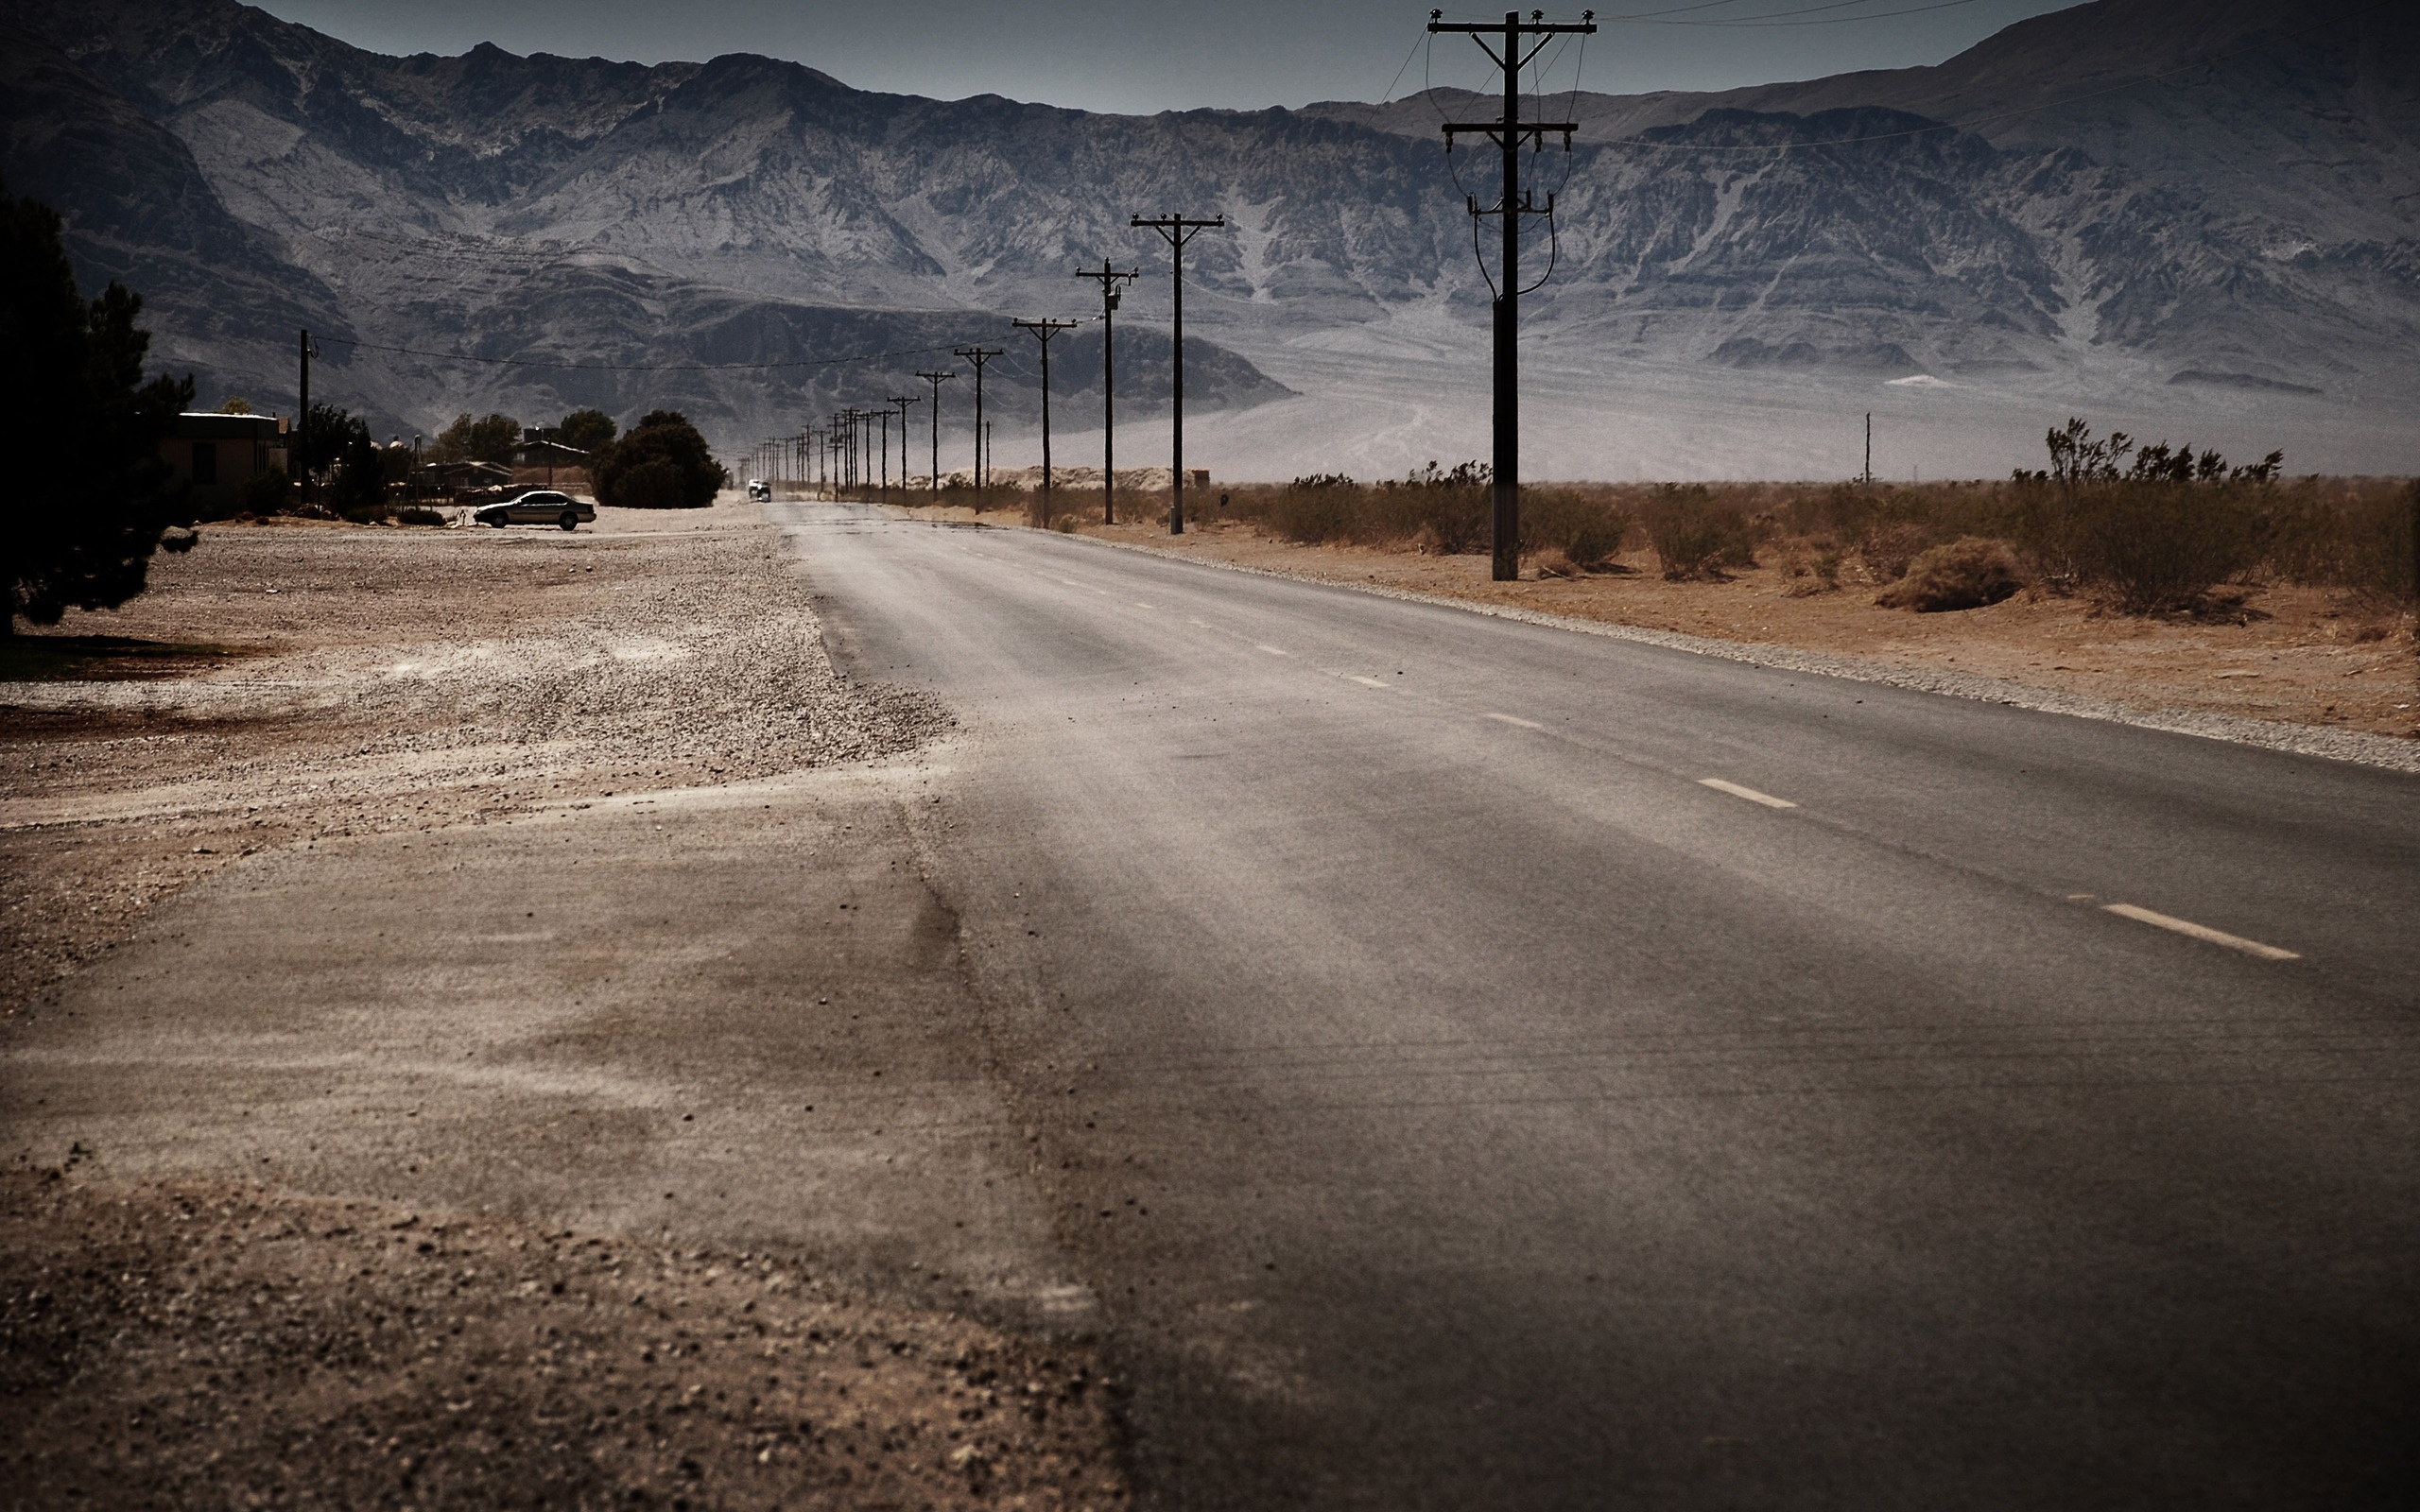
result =
[[160,460],[194,380],[143,382],[143,298],[111,283],[85,300],[58,215],[0,184],[0,411],[22,445],[0,491],[7,614],[58,624],[143,593],[152,552],[194,544],[186,486]]

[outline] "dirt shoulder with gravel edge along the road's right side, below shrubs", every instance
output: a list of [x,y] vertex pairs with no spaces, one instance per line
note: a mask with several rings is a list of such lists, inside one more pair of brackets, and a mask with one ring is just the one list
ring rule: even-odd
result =
[[[970,510],[912,510],[975,518]],[[985,525],[1021,527],[990,513]],[[1648,552],[1617,573],[1496,583],[1486,556],[1302,547],[1249,525],[1087,523],[1082,537],[1365,593],[1452,602],[1675,651],[1859,682],[1917,687],[2147,728],[2420,772],[2420,644],[2413,614],[2350,595],[2268,585],[2207,619],[2130,619],[2072,598],[1914,614],[1873,585],[1813,593],[1786,564],[1728,583],[1665,583]]]

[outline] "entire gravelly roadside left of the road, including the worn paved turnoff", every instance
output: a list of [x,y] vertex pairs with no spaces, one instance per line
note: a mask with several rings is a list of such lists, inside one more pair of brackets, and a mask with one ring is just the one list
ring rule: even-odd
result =
[[0,685],[0,1502],[1128,1500],[949,716],[600,513],[211,527]]

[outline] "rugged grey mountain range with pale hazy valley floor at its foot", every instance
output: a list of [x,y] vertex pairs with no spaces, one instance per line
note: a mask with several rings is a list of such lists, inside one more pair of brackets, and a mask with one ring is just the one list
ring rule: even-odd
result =
[[[1038,348],[1007,322],[1096,314],[1072,273],[1106,256],[1142,271],[1118,404],[1152,448],[1166,249],[1128,218],[1176,210],[1229,220],[1186,254],[1188,460],[1486,452],[1464,196],[1496,174],[1437,121],[1488,99],[1101,116],[757,56],[387,58],[232,0],[10,0],[0,53],[10,189],[206,394],[290,404],[307,327],[315,397],[380,433],[670,404],[731,450],[983,344],[1026,462]],[[1580,123],[1532,165],[1542,472],[1846,474],[1866,411],[1934,474],[2023,462],[2064,414],[2420,469],[2420,7],[2098,0],[1936,68],[1537,109]],[[1087,445],[1099,327],[1050,360]]]

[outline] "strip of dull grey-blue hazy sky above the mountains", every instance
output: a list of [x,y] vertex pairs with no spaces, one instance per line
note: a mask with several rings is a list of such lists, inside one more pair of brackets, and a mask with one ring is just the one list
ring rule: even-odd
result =
[[[1534,7],[1532,0],[1529,7]],[[1588,90],[1721,90],[1938,63],[2072,0],[1631,0],[1597,5]],[[576,58],[767,53],[857,85],[958,99],[1007,94],[1096,111],[1261,109],[1379,99],[1423,82],[1428,5],[1399,0],[261,0],[378,53],[482,41]],[[1527,7],[1525,7],[1527,10]],[[1578,19],[1549,10],[1551,19]],[[1650,15],[1653,12],[1653,15]],[[1447,7],[1452,19],[1503,10]],[[1617,22],[1614,17],[1638,17]],[[1408,58],[1408,68],[1396,68]],[[1546,87],[1571,87],[1566,51]],[[1481,85],[1483,58],[1440,36],[1435,82]]]

